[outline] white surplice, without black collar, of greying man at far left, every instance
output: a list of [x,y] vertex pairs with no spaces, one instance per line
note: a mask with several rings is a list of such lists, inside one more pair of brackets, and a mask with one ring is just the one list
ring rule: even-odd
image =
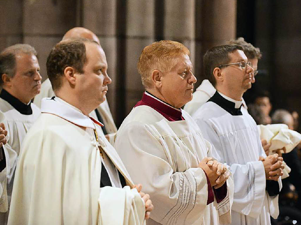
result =
[[[9,149],[9,151],[14,151],[14,155],[16,155],[16,157],[11,157],[10,159],[12,165],[14,166],[11,167],[12,169],[10,170],[7,180],[8,211],[5,213],[0,213],[0,224],[7,223],[10,209],[11,192],[14,183],[14,169],[16,163],[18,162],[21,144],[23,143],[26,133],[40,115],[40,109],[33,103],[29,104],[31,104],[32,114],[24,115],[17,111],[10,103],[0,98],[0,109],[5,116],[5,121],[7,123],[6,129],[9,132],[8,143],[5,145],[5,147],[6,149]],[[12,162],[12,159],[14,159],[15,162]]]

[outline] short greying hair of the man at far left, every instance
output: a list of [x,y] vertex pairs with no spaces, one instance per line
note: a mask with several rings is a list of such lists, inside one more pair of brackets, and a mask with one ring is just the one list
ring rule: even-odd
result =
[[0,86],[3,86],[2,74],[7,74],[13,78],[16,74],[16,56],[18,54],[33,54],[37,55],[34,47],[29,44],[14,44],[5,48],[0,53]]

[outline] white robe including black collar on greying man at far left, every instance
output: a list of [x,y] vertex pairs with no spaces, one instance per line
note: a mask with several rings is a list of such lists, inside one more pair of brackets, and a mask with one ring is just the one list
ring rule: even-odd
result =
[[[25,135],[30,127],[39,117],[40,109],[31,102],[24,104],[19,99],[8,93],[5,89],[2,89],[0,93],[0,110],[3,112],[6,118],[6,129],[10,134],[8,143],[5,147],[15,151],[17,155],[17,157],[11,157],[11,159],[16,160],[16,162],[12,162],[12,165],[14,165],[18,162],[23,139],[25,138]],[[8,211],[5,213],[0,213],[0,223],[2,224],[6,224],[8,219],[11,192],[14,183],[14,169],[15,166],[12,167],[10,176],[7,180]]]

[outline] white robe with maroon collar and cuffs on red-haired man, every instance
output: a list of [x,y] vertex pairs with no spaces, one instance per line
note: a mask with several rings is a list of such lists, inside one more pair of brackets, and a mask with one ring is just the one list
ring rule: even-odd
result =
[[197,167],[213,149],[184,110],[145,92],[120,126],[114,146],[134,181],[151,195],[154,210],[147,224],[231,221],[233,181],[217,191]]

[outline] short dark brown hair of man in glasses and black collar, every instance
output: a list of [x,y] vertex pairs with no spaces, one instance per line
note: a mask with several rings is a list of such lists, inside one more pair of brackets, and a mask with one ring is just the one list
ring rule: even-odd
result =
[[224,44],[215,46],[206,51],[203,58],[203,67],[205,70],[205,78],[215,87],[216,80],[213,75],[213,70],[220,65],[228,64],[230,62],[229,53],[235,50],[244,51],[244,47],[237,44]]

